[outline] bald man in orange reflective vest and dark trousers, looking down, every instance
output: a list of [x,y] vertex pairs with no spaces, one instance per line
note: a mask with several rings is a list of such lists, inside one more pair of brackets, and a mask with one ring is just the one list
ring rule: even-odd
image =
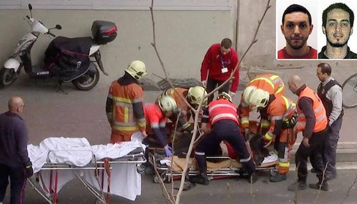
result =
[[[319,179],[317,184],[310,184],[310,188],[321,185],[321,190],[328,191],[328,185],[323,178],[323,165],[321,157],[323,144],[326,139],[327,117],[321,99],[312,89],[302,83],[299,76],[294,75],[289,79],[289,89],[299,96],[296,103],[298,122],[297,129],[302,132],[302,142],[295,154],[295,164],[297,166],[297,182],[288,187],[290,191],[304,190],[307,188],[308,177],[307,161],[310,157],[311,164],[316,169]],[[311,159],[313,158],[313,159]]]

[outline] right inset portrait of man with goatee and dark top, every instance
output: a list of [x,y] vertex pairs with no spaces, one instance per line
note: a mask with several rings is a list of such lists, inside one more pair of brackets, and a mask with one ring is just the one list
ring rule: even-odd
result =
[[318,59],[357,59],[353,32],[357,1],[321,1],[318,4]]

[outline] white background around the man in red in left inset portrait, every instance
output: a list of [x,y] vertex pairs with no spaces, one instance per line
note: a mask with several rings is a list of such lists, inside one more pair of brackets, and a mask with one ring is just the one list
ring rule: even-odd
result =
[[277,59],[277,51],[279,49],[282,49],[283,47],[286,46],[286,40],[285,37],[282,33],[282,30],[280,29],[280,26],[282,24],[282,17],[283,13],[288,6],[292,4],[298,4],[306,9],[311,14],[311,20],[312,24],[314,25],[313,31],[311,32],[309,39],[308,39],[308,45],[312,46],[313,48],[316,49],[317,47],[317,29],[318,29],[318,15],[317,15],[317,1],[279,1],[276,0],[276,59]]

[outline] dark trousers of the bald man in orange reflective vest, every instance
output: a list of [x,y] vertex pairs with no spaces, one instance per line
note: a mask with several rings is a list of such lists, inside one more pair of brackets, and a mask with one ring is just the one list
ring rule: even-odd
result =
[[308,158],[310,157],[311,165],[316,169],[316,176],[322,179],[323,163],[322,158],[319,156],[322,154],[323,145],[326,140],[326,131],[313,133],[309,140],[310,147],[305,147],[302,142],[295,154],[295,164],[298,166],[297,177],[299,182],[306,182],[308,177]]

